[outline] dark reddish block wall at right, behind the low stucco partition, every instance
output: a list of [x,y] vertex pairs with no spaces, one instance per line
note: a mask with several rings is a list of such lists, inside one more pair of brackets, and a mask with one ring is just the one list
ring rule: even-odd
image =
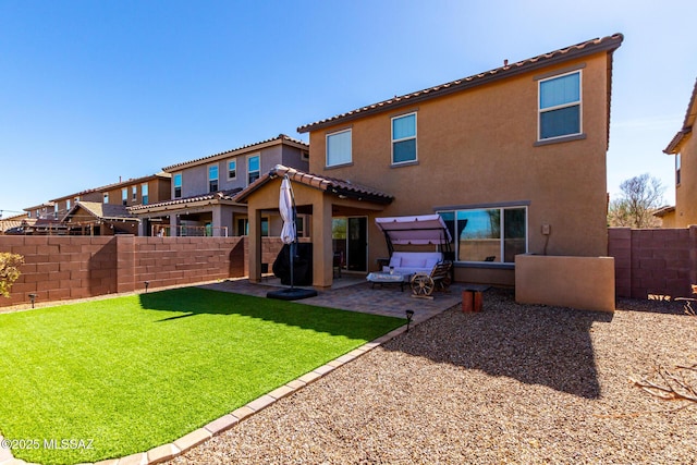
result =
[[687,297],[697,283],[697,225],[684,229],[608,230],[619,297]]

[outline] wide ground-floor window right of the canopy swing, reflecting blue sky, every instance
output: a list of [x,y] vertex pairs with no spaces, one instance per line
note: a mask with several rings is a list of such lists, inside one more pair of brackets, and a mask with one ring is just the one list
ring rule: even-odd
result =
[[456,261],[513,264],[527,253],[527,207],[440,211],[454,240]]

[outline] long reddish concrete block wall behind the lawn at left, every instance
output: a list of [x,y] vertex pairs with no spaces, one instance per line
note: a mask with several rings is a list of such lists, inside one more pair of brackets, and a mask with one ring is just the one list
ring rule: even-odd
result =
[[[246,276],[246,237],[0,236],[0,252],[24,256],[0,307],[94,297]],[[269,238],[274,242],[276,238]],[[274,252],[268,247],[268,259]],[[276,255],[273,256],[273,258]],[[267,258],[265,256],[265,258]]]

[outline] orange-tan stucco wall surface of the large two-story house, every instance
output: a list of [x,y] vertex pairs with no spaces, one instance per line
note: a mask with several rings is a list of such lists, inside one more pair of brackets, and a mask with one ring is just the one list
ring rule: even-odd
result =
[[[534,77],[577,65],[584,66],[586,138],[535,147],[538,90]],[[448,206],[528,205],[528,252],[543,252],[541,227],[549,224],[548,254],[606,255],[608,85],[603,52],[314,131],[310,172],[393,195],[394,201],[381,216],[432,213]],[[417,112],[418,163],[393,168],[391,118],[412,111]],[[347,127],[352,129],[352,164],[326,168],[326,135]],[[371,218],[368,223],[372,264],[387,248]],[[478,265],[458,268],[456,279],[513,284],[513,270]]]

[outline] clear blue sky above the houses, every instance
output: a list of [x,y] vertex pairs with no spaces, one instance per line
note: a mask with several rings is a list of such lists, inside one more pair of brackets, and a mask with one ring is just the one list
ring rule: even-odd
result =
[[0,210],[613,33],[608,191],[648,172],[673,203],[697,2],[563,3],[0,0]]

